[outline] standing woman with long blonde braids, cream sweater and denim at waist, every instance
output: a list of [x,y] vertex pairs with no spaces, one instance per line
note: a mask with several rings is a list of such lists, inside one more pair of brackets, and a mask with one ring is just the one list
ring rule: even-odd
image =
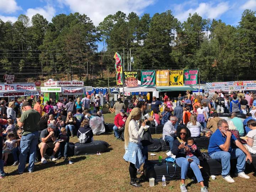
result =
[[143,134],[145,127],[145,122],[139,125],[136,121],[141,118],[142,111],[140,108],[135,107],[131,111],[130,115],[126,119],[125,129],[124,129],[124,146],[125,154],[123,159],[130,162],[129,173],[130,173],[130,185],[135,187],[142,186],[137,180],[137,169],[144,163],[142,155],[142,143],[140,142],[140,136]]

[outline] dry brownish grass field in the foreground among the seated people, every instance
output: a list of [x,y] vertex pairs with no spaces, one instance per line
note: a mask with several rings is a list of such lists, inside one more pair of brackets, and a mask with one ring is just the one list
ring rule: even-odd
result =
[[[105,114],[105,121],[113,123],[114,114]],[[153,134],[153,138],[160,138],[161,134]],[[149,188],[149,182],[142,183],[142,187],[135,188],[129,185],[129,164],[123,160],[124,142],[116,140],[111,134],[94,136],[95,140],[105,140],[110,144],[110,152],[101,155],[73,156],[70,158],[74,164],[66,164],[64,160],[48,162],[42,165],[36,163],[35,170],[29,174],[25,172],[17,175],[17,166],[4,167],[8,177],[0,180],[0,191],[180,191],[180,181],[167,182],[162,187],[159,182],[155,187]],[[71,138],[70,142],[77,142],[77,138]],[[166,157],[164,152],[149,159],[156,159],[159,155]],[[142,169],[142,168],[141,168]],[[235,177],[235,183],[227,183],[221,176],[216,180],[209,180],[209,191],[255,191],[256,178],[250,173],[249,180]],[[188,191],[199,191],[199,184],[194,184],[190,179],[186,180]]]

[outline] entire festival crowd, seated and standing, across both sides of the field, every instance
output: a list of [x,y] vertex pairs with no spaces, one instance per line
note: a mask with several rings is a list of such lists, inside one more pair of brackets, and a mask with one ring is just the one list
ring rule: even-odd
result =
[[[182,192],[187,191],[185,178],[188,167],[193,170],[201,185],[201,191],[208,191],[200,171],[202,167],[199,160],[202,159],[202,154],[195,142],[202,135],[210,138],[208,148],[210,157],[222,162],[224,180],[234,182],[229,176],[230,159],[238,159],[237,176],[250,178],[244,170],[246,161],[252,161],[250,154],[256,154],[256,97],[253,96],[256,95],[249,92],[245,95],[241,92],[237,94],[215,92],[209,98],[207,94],[202,97],[187,91],[184,96],[180,94],[174,103],[165,93],[162,100],[152,98],[150,110],[148,96],[139,95],[138,98],[134,96],[128,108],[121,98],[118,98],[113,106],[115,109],[113,130],[114,137],[124,140],[125,143],[126,151],[123,158],[130,162],[130,184],[141,186],[137,174],[142,173],[140,167],[148,160],[148,148],[141,143],[142,135],[148,131],[148,126],[157,127],[160,124],[163,125],[162,139],[169,144],[170,153],[176,155],[176,164],[182,170],[180,185]],[[250,102],[248,102],[249,97]],[[75,98],[74,101],[64,99],[53,102],[50,99],[44,105],[38,99],[33,108],[26,100],[20,103],[9,102],[8,107],[5,105],[5,101],[1,100],[0,148],[2,151],[0,152],[3,160],[0,161],[1,178],[6,176],[3,166],[10,153],[14,156],[13,165],[18,165],[19,174],[25,171],[26,159],[29,155],[27,169],[28,172],[33,172],[37,148],[40,149],[42,164],[47,163],[44,156],[48,148],[53,149],[50,161],[60,158],[67,160],[69,138],[76,134],[80,143],[89,143],[93,140],[89,123],[91,117],[98,116],[104,122],[104,116],[99,111],[100,97],[95,97],[94,100],[97,113],[90,114],[90,95],[82,99]],[[20,118],[17,118],[18,113],[15,108],[20,108]],[[161,108],[163,110],[160,112]],[[231,113],[230,120],[220,118],[220,113]],[[244,121],[238,117],[240,114],[246,115]],[[17,131],[15,131],[15,123],[20,128]],[[236,148],[232,148],[234,145]]]

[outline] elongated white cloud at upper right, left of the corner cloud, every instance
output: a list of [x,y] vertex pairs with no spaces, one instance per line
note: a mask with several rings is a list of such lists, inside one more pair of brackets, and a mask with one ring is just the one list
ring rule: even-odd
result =
[[[187,2],[186,2],[187,4]],[[188,18],[188,14],[192,15],[196,12],[198,15],[206,18],[218,18],[224,12],[230,9],[228,2],[220,2],[218,5],[214,6],[211,3],[200,3],[196,8],[190,8],[188,10],[184,10],[185,5],[179,4],[177,8],[175,8],[174,15],[180,20],[185,21]]]

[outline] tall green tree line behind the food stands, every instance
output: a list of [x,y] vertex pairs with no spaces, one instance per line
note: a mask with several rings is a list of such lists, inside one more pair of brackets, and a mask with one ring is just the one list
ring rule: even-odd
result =
[[[98,42],[104,49],[98,51]],[[79,13],[51,22],[39,14],[31,21],[26,15],[15,23],[0,20],[0,74],[67,74],[88,82],[102,70],[114,73],[114,53],[123,49],[125,64],[131,50],[132,70],[198,68],[203,81],[256,80],[255,11],[245,10],[237,26],[197,13],[181,22],[171,10],[152,17],[118,11],[98,26]]]

